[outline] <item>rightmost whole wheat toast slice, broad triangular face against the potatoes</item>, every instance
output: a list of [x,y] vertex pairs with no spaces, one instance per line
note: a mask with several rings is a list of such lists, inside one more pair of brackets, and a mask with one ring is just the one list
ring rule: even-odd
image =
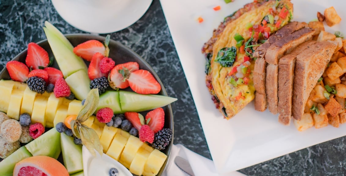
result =
[[322,76],[337,45],[322,41],[297,55],[293,79],[292,115],[300,120],[309,94]]

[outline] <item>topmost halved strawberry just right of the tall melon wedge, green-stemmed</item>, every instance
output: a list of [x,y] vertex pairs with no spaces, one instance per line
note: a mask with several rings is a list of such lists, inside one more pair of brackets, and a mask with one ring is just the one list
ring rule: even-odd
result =
[[108,54],[105,53],[106,47],[97,40],[88,40],[84,43],[81,43],[73,48],[73,52],[82,57],[83,59],[87,61],[91,61],[92,57],[95,53],[99,52],[104,56],[108,56]]

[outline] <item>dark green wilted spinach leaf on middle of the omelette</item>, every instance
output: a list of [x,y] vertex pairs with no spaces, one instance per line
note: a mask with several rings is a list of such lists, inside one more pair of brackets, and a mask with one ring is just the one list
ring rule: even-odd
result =
[[237,48],[232,46],[231,48],[225,47],[222,48],[215,59],[215,62],[218,62],[223,67],[230,67],[233,65],[236,60]]

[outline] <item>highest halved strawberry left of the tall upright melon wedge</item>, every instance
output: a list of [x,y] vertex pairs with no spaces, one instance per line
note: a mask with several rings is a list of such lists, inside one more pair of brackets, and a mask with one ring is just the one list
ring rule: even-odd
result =
[[25,63],[31,69],[45,68],[49,64],[48,53],[38,44],[31,42],[28,44],[28,54]]

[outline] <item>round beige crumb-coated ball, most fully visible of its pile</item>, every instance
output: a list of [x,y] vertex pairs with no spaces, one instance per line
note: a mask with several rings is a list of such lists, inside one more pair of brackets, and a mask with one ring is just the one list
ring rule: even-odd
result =
[[9,119],[1,124],[1,136],[8,142],[16,142],[22,133],[21,125],[14,119]]

